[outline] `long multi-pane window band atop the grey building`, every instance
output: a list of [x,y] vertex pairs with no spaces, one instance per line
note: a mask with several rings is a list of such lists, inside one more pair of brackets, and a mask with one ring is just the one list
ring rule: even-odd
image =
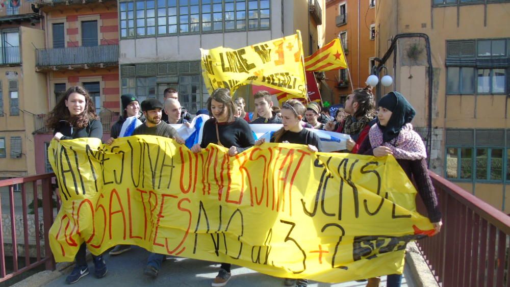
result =
[[121,38],[270,28],[269,0],[146,0],[119,12]]

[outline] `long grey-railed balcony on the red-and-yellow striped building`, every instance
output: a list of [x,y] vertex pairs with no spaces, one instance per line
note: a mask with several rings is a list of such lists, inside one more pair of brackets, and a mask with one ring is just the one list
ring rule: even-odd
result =
[[36,70],[103,68],[118,63],[119,45],[37,49]]

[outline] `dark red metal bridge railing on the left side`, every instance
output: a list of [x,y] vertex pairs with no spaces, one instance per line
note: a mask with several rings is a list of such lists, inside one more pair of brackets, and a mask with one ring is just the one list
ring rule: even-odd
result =
[[[0,282],[41,264],[45,264],[46,270],[55,269],[48,241],[49,228],[55,218],[54,207],[59,206],[58,198],[54,197],[54,179],[54,173],[46,173],[0,180],[0,213],[3,215],[0,219]],[[20,192],[14,192],[14,187],[18,186]],[[5,206],[9,209],[2,211],[1,207]],[[6,260],[12,260],[12,264]]]

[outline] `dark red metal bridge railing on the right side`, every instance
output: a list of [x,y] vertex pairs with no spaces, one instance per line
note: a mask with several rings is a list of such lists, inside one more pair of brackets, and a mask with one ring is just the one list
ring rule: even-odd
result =
[[[510,217],[430,172],[439,196],[443,229],[417,242],[443,286],[510,286]],[[422,209],[424,210],[424,209]]]

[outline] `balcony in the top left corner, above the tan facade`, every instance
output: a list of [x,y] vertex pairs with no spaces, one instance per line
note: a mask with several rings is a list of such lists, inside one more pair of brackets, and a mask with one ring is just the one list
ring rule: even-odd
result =
[[21,24],[30,21],[32,25],[40,22],[39,9],[28,1],[5,1],[0,9],[0,24]]

